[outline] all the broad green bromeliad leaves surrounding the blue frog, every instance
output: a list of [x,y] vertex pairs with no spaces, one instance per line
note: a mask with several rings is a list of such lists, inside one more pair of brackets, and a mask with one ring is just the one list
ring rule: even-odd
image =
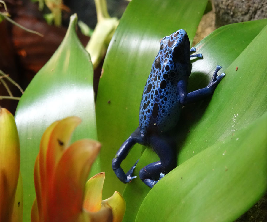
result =
[[[115,189],[123,192],[127,222],[159,218],[231,221],[263,196],[267,190],[267,50],[263,49],[267,45],[267,20],[221,27],[195,46],[203,59],[193,61],[188,91],[206,86],[207,75],[217,64],[226,77],[209,103],[183,109],[176,135],[178,166],[173,171],[150,190],[138,179],[128,185],[121,183],[111,168],[118,147],[138,126],[141,94],[160,39],[185,29],[192,42],[206,3],[131,1],[105,57],[96,109],[91,58],[75,34],[77,17],[71,17],[61,46],[29,84],[16,111],[26,212],[34,199],[31,173],[42,133],[51,122],[71,115],[83,119],[74,132],[74,141],[101,141],[100,158],[91,171],[93,175],[107,173],[104,197]],[[158,160],[149,148],[143,149],[140,157],[141,149],[132,149],[122,165],[130,169],[140,158],[134,175]]]

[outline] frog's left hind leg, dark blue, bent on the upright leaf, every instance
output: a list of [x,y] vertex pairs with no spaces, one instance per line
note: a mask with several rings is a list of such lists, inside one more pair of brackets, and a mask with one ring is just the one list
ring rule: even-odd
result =
[[117,177],[120,179],[120,181],[123,183],[129,183],[131,182],[132,179],[136,178],[136,176],[133,177],[132,174],[133,174],[134,168],[138,160],[126,174],[124,173],[123,169],[120,167],[121,162],[126,158],[130,149],[136,143],[144,144],[139,128],[137,128],[134,131],[134,133],[132,133],[131,136],[129,136],[129,138],[121,145],[120,149],[117,151],[115,155],[115,158],[113,158],[112,160],[112,169],[117,175]]

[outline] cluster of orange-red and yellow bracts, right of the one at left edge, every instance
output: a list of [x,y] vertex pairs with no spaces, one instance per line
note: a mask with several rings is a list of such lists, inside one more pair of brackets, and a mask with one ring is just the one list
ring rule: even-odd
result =
[[102,201],[105,174],[85,185],[100,150],[97,141],[83,139],[69,145],[81,122],[68,117],[51,124],[42,136],[34,166],[36,199],[31,221],[122,221],[125,201],[120,193]]

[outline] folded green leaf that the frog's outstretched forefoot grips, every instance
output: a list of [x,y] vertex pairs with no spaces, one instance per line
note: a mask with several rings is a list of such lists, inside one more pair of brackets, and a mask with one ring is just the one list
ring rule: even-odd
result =
[[266,24],[267,19],[223,26],[196,45],[204,59],[193,63],[190,91],[205,87],[217,64],[226,76],[210,101],[204,100],[184,110],[186,120],[179,132],[184,139],[180,138],[178,144],[178,148],[182,147],[178,165],[246,127],[266,111],[267,53],[261,46],[267,43]]

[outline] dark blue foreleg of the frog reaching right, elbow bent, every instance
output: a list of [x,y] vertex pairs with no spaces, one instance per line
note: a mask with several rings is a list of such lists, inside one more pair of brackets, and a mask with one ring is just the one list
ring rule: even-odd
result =
[[219,76],[217,75],[218,71],[221,68],[221,66],[217,65],[212,80],[209,82],[207,87],[203,89],[198,89],[190,93],[187,93],[188,76],[185,76],[183,79],[181,79],[177,84],[177,91],[180,98],[180,103],[182,105],[186,105],[188,103],[193,103],[198,100],[201,100],[208,95],[211,95],[219,84],[219,82],[225,76],[225,73],[222,73]]

